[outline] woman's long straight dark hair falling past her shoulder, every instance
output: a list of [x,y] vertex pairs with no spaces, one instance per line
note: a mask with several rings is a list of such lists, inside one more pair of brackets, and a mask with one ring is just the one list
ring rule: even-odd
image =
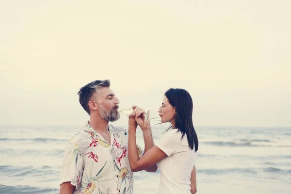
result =
[[[193,101],[190,94],[180,88],[171,88],[164,94],[169,103],[176,109],[175,128],[182,133],[181,139],[187,136],[188,144],[191,149],[195,146],[195,152],[198,150],[198,138],[193,126],[192,113]],[[169,129],[173,128],[171,126]]]

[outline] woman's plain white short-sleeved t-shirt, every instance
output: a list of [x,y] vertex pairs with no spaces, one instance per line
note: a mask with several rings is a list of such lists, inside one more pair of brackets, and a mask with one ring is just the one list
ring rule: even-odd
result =
[[190,179],[197,153],[188,145],[187,135],[172,129],[156,145],[168,157],[158,162],[161,170],[159,194],[191,194]]

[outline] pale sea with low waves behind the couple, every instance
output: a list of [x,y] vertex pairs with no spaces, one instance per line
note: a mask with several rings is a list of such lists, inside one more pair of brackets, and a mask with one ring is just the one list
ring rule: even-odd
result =
[[[166,128],[152,127],[155,142]],[[80,129],[0,127],[0,194],[58,194],[65,145]],[[291,128],[195,129],[196,194],[291,194]],[[140,130],[137,143],[144,146]],[[157,193],[159,179],[159,170],[135,172],[134,193]]]

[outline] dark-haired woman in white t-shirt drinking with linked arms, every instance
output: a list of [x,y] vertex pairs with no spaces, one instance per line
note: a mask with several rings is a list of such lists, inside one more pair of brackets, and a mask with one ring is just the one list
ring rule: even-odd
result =
[[192,97],[184,89],[171,88],[165,92],[158,112],[161,123],[170,122],[171,127],[141,158],[136,148],[136,128],[150,129],[150,123],[141,109],[129,114],[130,168],[141,171],[157,164],[161,170],[159,194],[195,194],[198,139],[192,121]]

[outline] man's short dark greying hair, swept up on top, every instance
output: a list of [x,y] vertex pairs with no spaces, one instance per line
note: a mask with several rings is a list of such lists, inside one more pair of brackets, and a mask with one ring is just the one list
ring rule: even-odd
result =
[[88,114],[90,114],[90,109],[88,105],[89,101],[92,97],[94,97],[95,94],[98,93],[99,89],[102,87],[110,87],[110,80],[92,81],[81,87],[80,91],[78,92],[79,102]]

